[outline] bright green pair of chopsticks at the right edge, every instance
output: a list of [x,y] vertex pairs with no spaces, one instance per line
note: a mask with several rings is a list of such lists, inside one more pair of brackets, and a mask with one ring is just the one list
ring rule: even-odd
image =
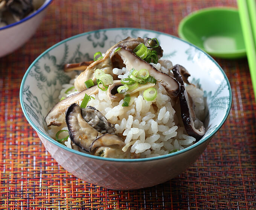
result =
[[256,99],[256,1],[237,0],[254,97]]

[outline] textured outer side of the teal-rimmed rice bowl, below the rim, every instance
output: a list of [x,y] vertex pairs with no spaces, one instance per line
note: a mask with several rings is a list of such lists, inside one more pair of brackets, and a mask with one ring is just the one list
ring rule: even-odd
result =
[[[185,171],[205,150],[210,139],[194,150],[158,160],[106,161],[60,148],[38,134],[51,156],[68,172],[89,183],[114,190],[133,190],[164,183]],[[137,159],[139,160],[139,159]]]

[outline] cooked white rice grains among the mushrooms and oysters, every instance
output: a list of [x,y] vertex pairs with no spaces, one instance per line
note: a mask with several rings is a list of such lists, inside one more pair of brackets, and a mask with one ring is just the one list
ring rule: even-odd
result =
[[[172,62],[159,60],[159,63],[151,63],[159,71],[172,74]],[[125,68],[113,69],[113,73],[120,79],[127,78],[128,71]],[[75,79],[70,84],[64,84],[59,99],[67,97],[76,92],[66,94],[66,90],[74,85]],[[99,89],[97,95],[91,95],[87,105],[99,110],[108,121],[114,124],[118,135],[122,136],[125,142],[123,151],[130,150],[132,153],[140,154],[143,157],[155,157],[168,154],[173,150],[182,150],[194,144],[196,139],[187,135],[180,117],[177,99],[170,98],[165,88],[157,82],[154,86],[157,89],[157,97],[154,101],[143,99],[143,92],[137,97],[131,97],[133,103],[129,107],[122,107],[123,99],[120,102],[113,102],[107,96],[107,91]],[[199,120],[204,121],[204,98],[203,91],[195,85],[187,85],[186,90],[192,97],[195,104],[195,114]],[[81,102],[79,103],[79,105]],[[176,111],[175,111],[176,110]],[[195,121],[195,124],[197,122]],[[67,127],[58,127],[49,130],[54,138],[58,130]],[[71,148],[70,138],[65,142]],[[79,149],[83,151],[82,149]]]

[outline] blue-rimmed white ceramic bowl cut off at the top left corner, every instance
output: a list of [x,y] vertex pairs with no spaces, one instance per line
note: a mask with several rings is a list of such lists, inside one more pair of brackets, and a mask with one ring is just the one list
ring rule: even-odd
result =
[[46,0],[39,9],[26,18],[5,27],[0,27],[0,57],[10,54],[29,40],[42,22],[46,8],[51,1]]

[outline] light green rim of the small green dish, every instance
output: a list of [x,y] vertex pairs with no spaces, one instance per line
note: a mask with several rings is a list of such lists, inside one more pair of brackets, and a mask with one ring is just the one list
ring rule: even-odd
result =
[[[199,9],[195,10],[194,12],[188,14],[186,17],[184,17],[179,25],[178,25],[178,35],[180,36],[181,39],[189,42],[186,36],[184,36],[182,32],[182,28],[184,27],[184,24],[190,20],[191,18],[194,18],[195,16],[202,14],[202,13],[209,13],[209,12],[214,12],[214,11],[227,11],[227,12],[238,12],[238,9],[236,7],[207,7],[204,9]],[[242,33],[242,31],[241,31]],[[219,57],[219,58],[241,58],[241,57],[246,57],[246,49],[238,49],[235,52],[232,51],[227,51],[227,52],[209,52],[204,48],[200,48],[202,51],[206,51],[207,53]]]

